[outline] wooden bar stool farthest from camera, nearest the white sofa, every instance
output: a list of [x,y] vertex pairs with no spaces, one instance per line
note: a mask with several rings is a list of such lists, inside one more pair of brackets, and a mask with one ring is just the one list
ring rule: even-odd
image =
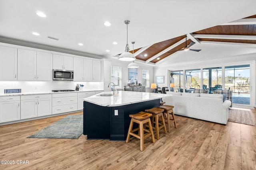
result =
[[[167,124],[168,132],[170,133],[171,131],[170,123],[174,122],[174,127],[177,128],[174,111],[173,111],[174,106],[163,105],[158,108],[164,109],[164,119],[165,119],[165,123]],[[170,114],[172,114],[172,118],[170,117]]]

